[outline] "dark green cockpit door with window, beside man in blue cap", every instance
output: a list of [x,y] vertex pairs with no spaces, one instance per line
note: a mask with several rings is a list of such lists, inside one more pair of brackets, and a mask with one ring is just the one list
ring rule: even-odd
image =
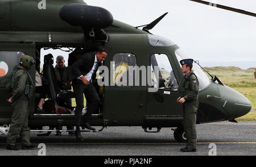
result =
[[170,61],[171,56],[168,56],[170,54],[150,55],[151,82],[156,90],[147,92],[147,127],[168,127],[170,124],[176,126],[176,123],[183,119],[183,107],[176,102],[179,97],[179,85],[175,76],[176,68]]

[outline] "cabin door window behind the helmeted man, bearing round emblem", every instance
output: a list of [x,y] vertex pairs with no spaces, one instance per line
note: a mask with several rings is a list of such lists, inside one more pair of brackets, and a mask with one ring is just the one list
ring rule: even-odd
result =
[[20,58],[25,53],[20,51],[0,51],[0,87],[9,82],[15,66],[19,65]]

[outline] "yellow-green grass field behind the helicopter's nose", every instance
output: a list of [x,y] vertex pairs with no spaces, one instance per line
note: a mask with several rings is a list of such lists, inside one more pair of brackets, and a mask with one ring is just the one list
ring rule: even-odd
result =
[[[243,70],[235,66],[217,66],[205,69],[210,74],[216,75],[225,85],[245,95],[251,102],[251,109],[256,110],[256,78],[254,77],[256,68]],[[249,112],[236,120],[256,122],[256,112]]]

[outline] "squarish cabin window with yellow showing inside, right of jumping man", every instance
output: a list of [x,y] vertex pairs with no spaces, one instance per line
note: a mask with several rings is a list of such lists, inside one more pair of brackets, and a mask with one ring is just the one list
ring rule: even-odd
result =
[[117,53],[113,57],[113,82],[117,86],[129,86],[129,76],[133,76],[132,85],[135,82],[134,71],[129,71],[129,66],[137,65],[137,58],[132,53]]

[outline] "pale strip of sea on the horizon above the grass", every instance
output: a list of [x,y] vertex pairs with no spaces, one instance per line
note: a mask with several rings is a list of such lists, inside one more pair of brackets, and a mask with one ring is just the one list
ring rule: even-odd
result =
[[199,62],[203,67],[213,67],[213,66],[237,66],[241,69],[248,69],[248,68],[256,68],[256,61],[229,61],[229,62],[206,62],[201,61]]

